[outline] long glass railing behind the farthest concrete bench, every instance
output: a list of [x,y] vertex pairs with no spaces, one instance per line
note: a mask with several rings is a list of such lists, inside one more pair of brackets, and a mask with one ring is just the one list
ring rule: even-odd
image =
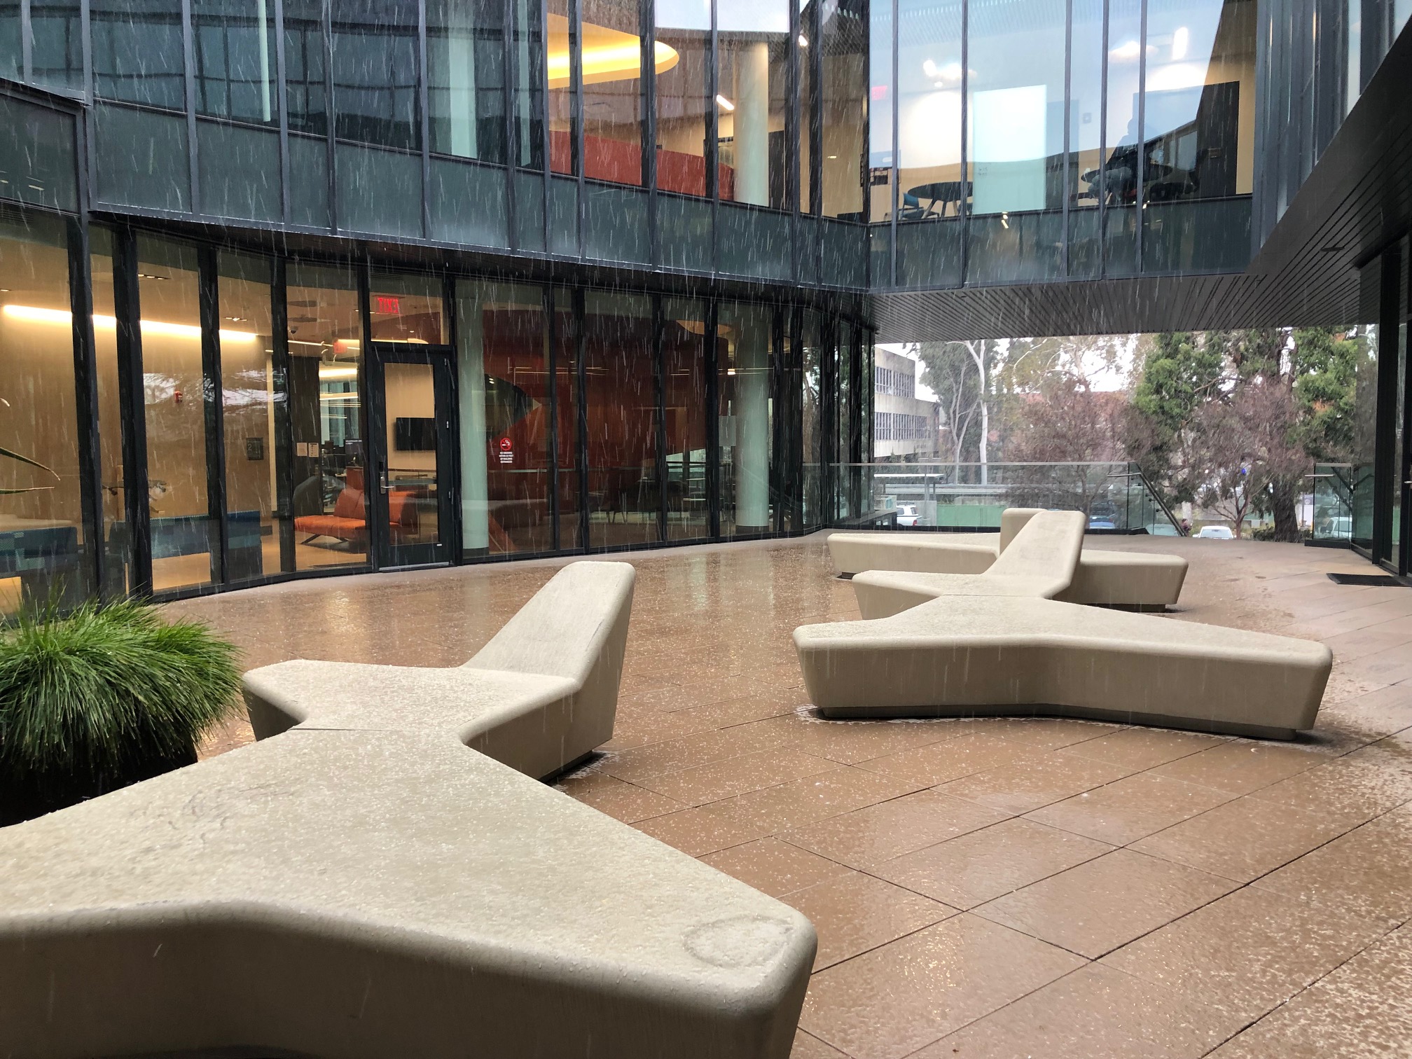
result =
[[987,531],[1042,507],[1083,511],[1093,532],[1182,535],[1135,463],[846,463],[834,481],[864,501],[850,525]]

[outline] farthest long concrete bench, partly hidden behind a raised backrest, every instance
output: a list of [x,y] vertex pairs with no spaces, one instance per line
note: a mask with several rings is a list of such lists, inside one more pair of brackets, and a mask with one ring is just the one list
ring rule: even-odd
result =
[[[984,573],[1038,508],[1007,508],[1000,534],[832,534],[829,554],[844,576],[864,570]],[[1079,556],[1067,603],[1162,610],[1175,606],[1186,579],[1178,555],[1110,552],[1087,548]]]

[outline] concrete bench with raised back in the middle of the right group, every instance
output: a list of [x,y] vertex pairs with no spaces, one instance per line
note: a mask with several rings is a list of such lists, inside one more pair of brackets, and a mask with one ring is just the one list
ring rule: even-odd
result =
[[853,578],[853,592],[866,618],[888,617],[938,596],[1055,599],[1069,589],[1082,548],[1082,511],[1038,511],[983,573],[864,570]]

